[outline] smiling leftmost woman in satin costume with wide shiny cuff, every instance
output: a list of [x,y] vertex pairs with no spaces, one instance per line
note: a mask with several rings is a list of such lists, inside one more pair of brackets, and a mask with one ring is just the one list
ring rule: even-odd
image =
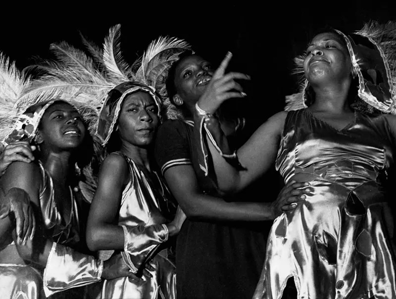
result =
[[[12,219],[1,219],[2,296],[44,298],[61,291],[60,297],[72,296],[65,290],[101,278],[134,277],[120,256],[103,263],[88,255],[80,242],[75,165],[82,168],[90,158],[90,137],[80,113],[60,99],[34,104],[4,142],[25,138],[38,148],[35,162],[11,163],[0,178],[0,187],[5,197],[30,200],[38,228],[31,238],[16,242]],[[77,155],[78,150],[87,155]],[[81,289],[77,293],[87,295]]]

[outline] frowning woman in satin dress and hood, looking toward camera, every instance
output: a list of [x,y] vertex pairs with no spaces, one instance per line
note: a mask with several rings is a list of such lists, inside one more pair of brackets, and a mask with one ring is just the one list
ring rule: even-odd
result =
[[[156,171],[151,147],[160,102],[152,87],[124,82],[108,93],[97,135],[106,147],[87,229],[87,244],[101,254],[122,252],[142,280],[106,280],[101,298],[176,298],[175,266],[166,243],[185,219]],[[173,219],[173,220],[171,220]]]

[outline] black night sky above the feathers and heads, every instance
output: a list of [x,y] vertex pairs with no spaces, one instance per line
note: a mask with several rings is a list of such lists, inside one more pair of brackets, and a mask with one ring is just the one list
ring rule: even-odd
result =
[[289,75],[293,57],[305,49],[315,29],[331,25],[348,32],[360,29],[369,19],[396,20],[396,0],[299,0],[294,4],[285,0],[254,4],[185,1],[183,5],[111,2],[119,7],[61,6],[59,2],[56,8],[55,4],[5,6],[0,17],[0,50],[22,68],[32,56],[46,56],[50,43],[67,41],[81,46],[79,31],[102,43],[108,28],[118,23],[122,24],[124,53],[130,61],[159,35],[186,39],[215,63],[230,50],[234,53],[230,69],[252,76],[247,85],[250,97],[244,107],[247,113],[264,120],[281,110],[284,96],[295,91],[294,78]]

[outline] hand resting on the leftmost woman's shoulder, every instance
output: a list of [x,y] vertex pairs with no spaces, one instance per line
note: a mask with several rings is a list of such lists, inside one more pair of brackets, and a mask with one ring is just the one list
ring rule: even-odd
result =
[[30,146],[26,140],[8,144],[0,154],[0,175],[3,175],[8,165],[14,161],[30,163],[34,160],[32,151],[35,146]]

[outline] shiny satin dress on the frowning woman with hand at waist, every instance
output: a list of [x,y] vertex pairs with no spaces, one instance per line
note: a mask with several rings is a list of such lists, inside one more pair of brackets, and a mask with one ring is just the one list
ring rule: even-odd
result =
[[[147,227],[169,222],[176,209],[162,178],[155,171],[153,176],[147,177],[132,159],[122,156],[129,164],[131,180],[122,192],[118,224],[126,226],[143,224]],[[140,244],[133,253],[135,261],[141,262],[146,258],[148,252],[145,250],[145,244],[149,244],[151,240],[151,235],[145,236],[143,233],[139,236]],[[108,251],[102,251],[101,256],[106,252],[108,255]],[[124,260],[128,263],[125,257]],[[176,268],[168,258],[167,250],[160,251],[150,264],[154,267],[153,271],[148,271],[152,278],[144,275],[141,283],[130,282],[127,277],[105,280],[101,298],[176,299]],[[131,268],[133,267],[132,265]]]

